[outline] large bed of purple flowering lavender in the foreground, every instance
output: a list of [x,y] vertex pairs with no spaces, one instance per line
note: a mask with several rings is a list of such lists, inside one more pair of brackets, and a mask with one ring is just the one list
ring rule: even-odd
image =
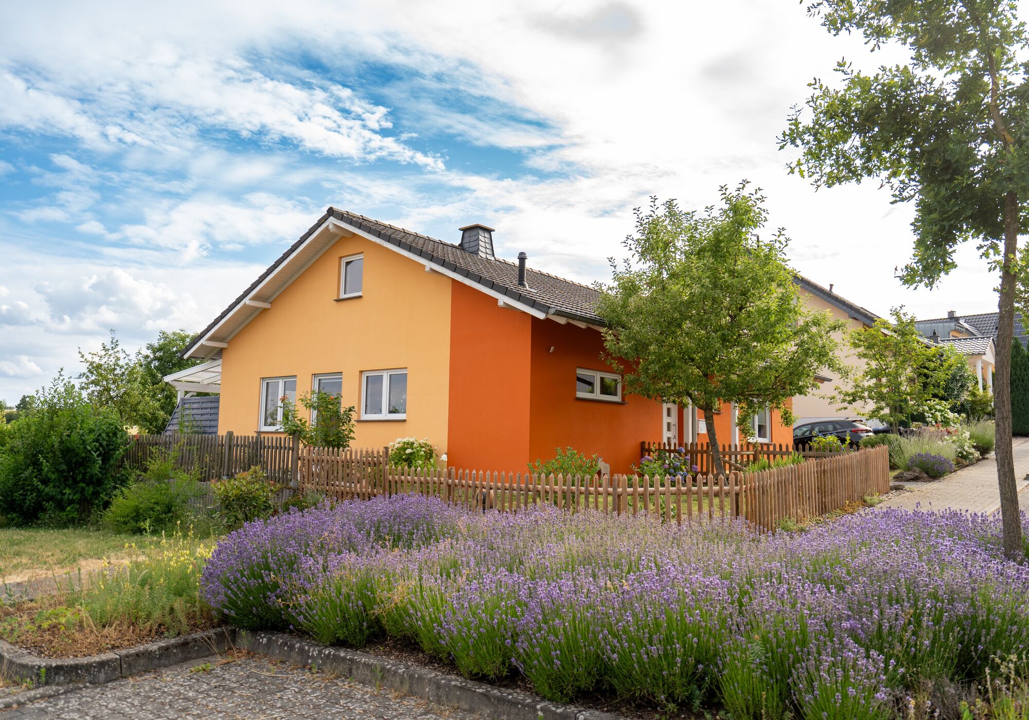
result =
[[388,635],[552,699],[604,691],[735,720],[912,717],[1029,650],[1029,570],[1003,559],[995,520],[960,513],[771,537],[378,498],[230,534],[203,592],[240,627],[351,647]]

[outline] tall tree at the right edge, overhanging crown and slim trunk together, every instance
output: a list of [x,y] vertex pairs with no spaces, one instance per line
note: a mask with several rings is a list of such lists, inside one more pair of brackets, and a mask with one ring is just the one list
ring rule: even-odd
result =
[[858,32],[873,49],[901,43],[908,65],[867,75],[845,61],[838,87],[816,79],[782,147],[816,186],[879,178],[894,202],[914,201],[909,285],[935,285],[966,241],[1000,269],[997,482],[1005,553],[1025,557],[1012,443],[1010,362],[1018,238],[1029,209],[1029,82],[1025,27],[1014,0],[814,0],[833,35]]

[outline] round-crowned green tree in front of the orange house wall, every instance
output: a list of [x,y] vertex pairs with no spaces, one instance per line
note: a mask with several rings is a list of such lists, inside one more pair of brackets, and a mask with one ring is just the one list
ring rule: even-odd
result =
[[745,182],[720,192],[721,206],[702,214],[657,199],[648,212],[637,209],[625,243],[631,259],[611,261],[597,313],[626,390],[704,410],[715,470],[724,473],[714,411],[738,403],[744,431],[765,405],[791,422],[789,399],[816,388],[819,369],[844,372],[832,338],[844,325],[805,309],[783,231],[756,235],[764,196]]

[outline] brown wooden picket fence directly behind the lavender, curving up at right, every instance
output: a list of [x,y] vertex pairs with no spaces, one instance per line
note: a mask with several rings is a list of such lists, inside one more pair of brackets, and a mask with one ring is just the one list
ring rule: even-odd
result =
[[742,517],[768,531],[787,518],[822,515],[889,490],[885,446],[762,472],[698,474],[685,480],[622,474],[565,477],[456,468],[412,470],[390,466],[388,458],[386,448],[305,447],[299,454],[297,489],[338,500],[415,493],[469,508],[507,512],[543,503],[570,512],[592,508],[669,523]]

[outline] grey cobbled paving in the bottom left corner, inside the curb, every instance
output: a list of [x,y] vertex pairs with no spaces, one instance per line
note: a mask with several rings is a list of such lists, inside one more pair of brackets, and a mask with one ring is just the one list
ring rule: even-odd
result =
[[[210,670],[193,671],[210,662]],[[345,678],[249,656],[194,660],[135,678],[41,699],[0,718],[166,720],[169,718],[360,718],[473,720],[478,715],[376,690]]]

